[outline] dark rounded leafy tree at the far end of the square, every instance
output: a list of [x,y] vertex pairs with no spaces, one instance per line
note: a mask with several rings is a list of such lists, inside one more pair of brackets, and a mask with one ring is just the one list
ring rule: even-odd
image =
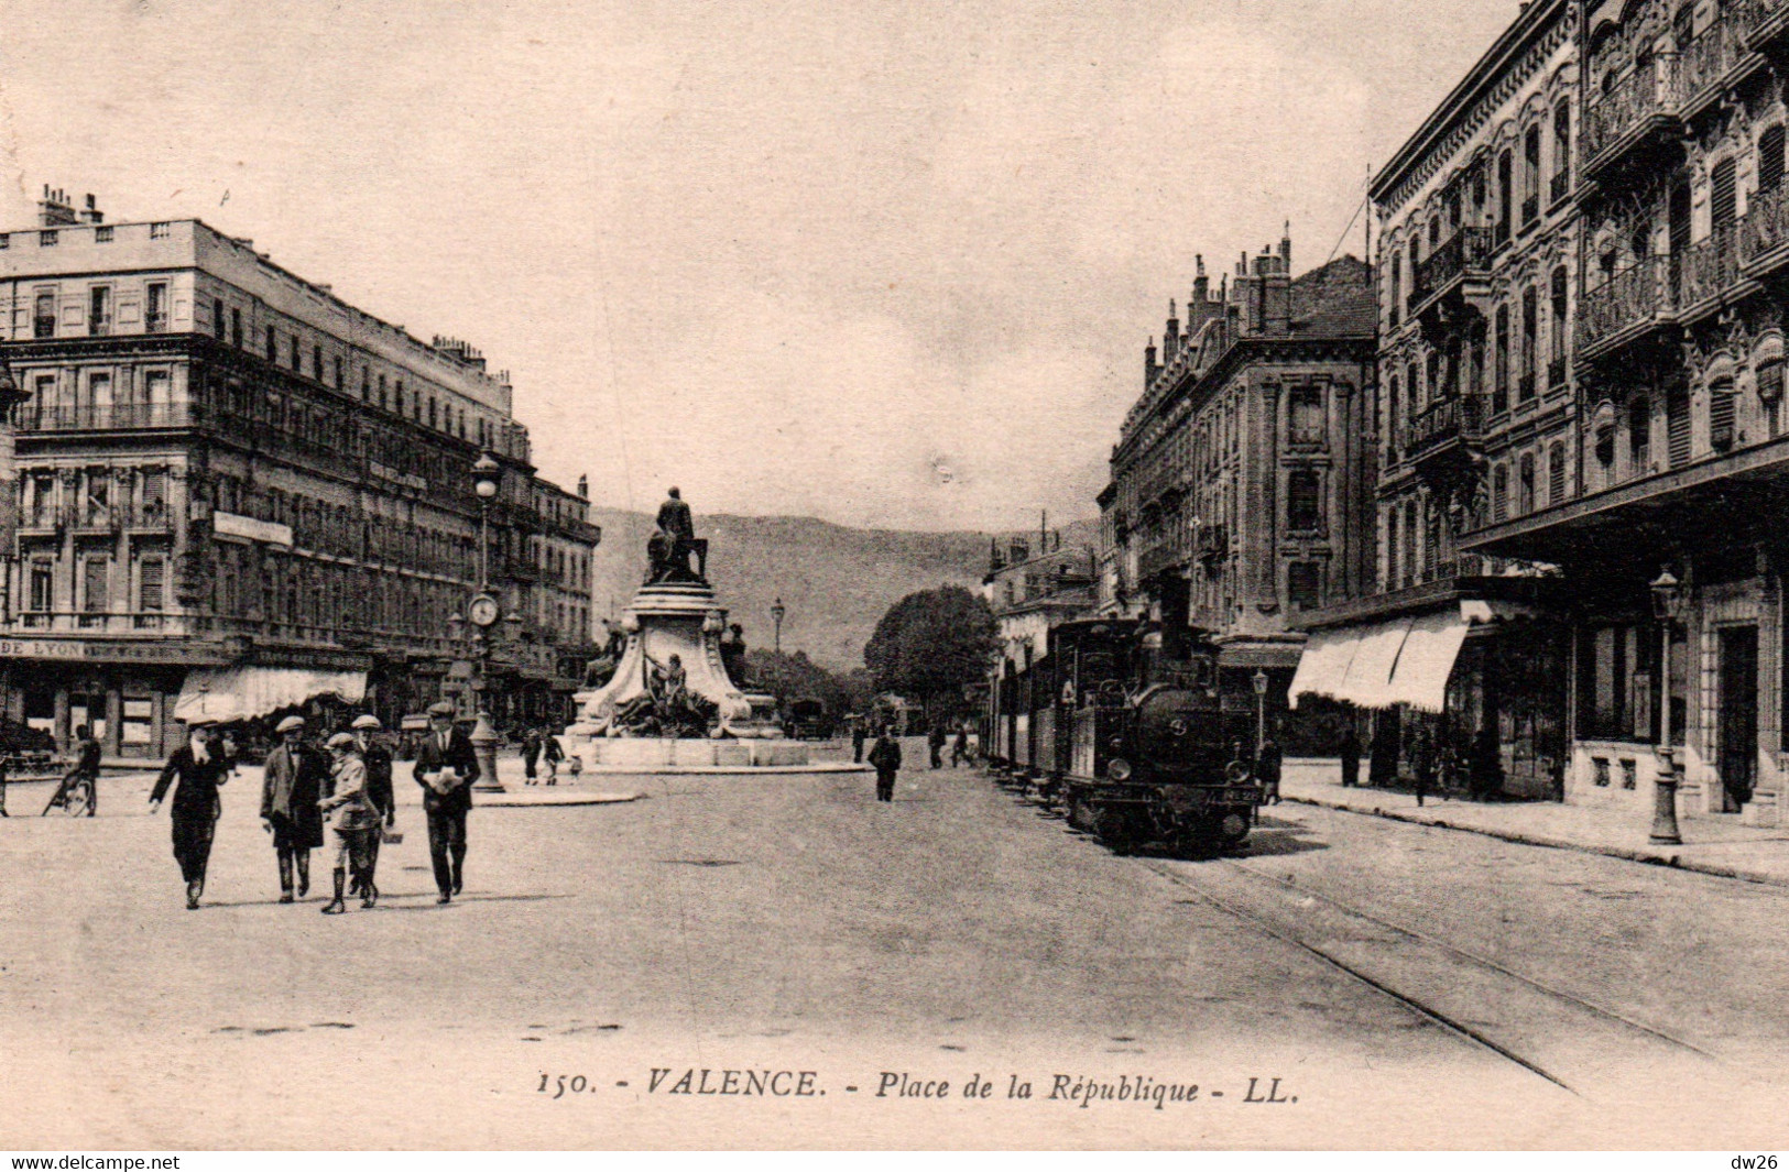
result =
[[877,691],[925,703],[932,716],[962,709],[962,689],[986,676],[995,650],[988,603],[959,585],[900,599],[864,644]]

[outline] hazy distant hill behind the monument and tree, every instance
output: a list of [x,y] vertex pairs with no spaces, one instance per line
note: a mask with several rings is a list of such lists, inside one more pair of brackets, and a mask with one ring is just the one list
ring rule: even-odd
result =
[[[646,576],[642,514],[592,508],[603,526],[596,551],[596,614],[619,616]],[[1093,544],[1098,521],[1061,526],[1063,544]],[[1013,533],[914,533],[853,530],[812,517],[696,517],[708,539],[708,580],[746,628],[746,642],[773,642],[771,603],[784,599],[784,651],[807,651],[825,667],[848,671],[864,662],[864,644],[889,607],[914,590],[945,583],[980,589],[989,537]],[[1030,535],[1036,539],[1036,533]],[[1036,544],[1036,540],[1032,540]]]

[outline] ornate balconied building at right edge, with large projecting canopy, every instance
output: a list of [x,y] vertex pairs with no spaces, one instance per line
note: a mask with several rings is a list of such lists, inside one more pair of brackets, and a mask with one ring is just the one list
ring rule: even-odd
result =
[[1578,38],[1581,494],[1471,546],[1573,583],[1573,800],[1649,807],[1664,764],[1685,807],[1776,823],[1789,4],[1585,2]]

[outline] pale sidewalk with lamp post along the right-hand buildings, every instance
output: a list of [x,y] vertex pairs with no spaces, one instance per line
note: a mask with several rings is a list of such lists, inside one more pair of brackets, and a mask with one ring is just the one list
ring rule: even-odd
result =
[[1333,760],[1288,759],[1279,784],[1286,802],[1333,811],[1372,814],[1446,830],[1471,830],[1530,846],[1585,850],[1633,862],[1675,866],[1685,871],[1744,879],[1789,887],[1789,830],[1742,827],[1739,818],[1680,818],[1682,846],[1648,843],[1651,816],[1635,811],[1589,809],[1555,802],[1463,802],[1431,796],[1417,805],[1415,794],[1392,789],[1344,789],[1342,768]]

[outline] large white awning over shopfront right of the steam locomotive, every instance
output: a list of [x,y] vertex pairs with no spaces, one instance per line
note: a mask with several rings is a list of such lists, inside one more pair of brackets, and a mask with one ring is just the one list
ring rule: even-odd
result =
[[1299,696],[1327,696],[1363,709],[1406,703],[1440,712],[1447,676],[1471,626],[1467,605],[1360,626],[1313,632],[1292,678]]

